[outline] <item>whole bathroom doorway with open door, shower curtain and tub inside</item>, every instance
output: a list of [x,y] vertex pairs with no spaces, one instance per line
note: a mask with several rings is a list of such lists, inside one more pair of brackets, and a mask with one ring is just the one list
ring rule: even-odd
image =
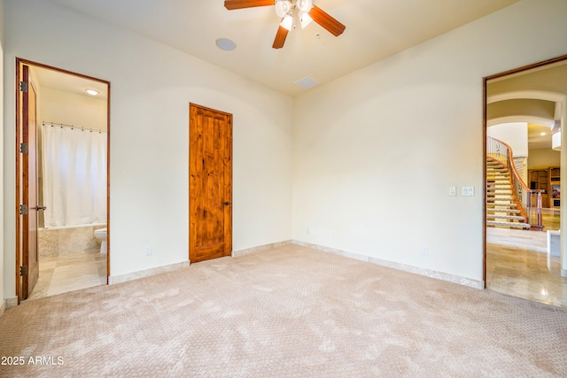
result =
[[110,83],[17,58],[19,300],[108,283]]

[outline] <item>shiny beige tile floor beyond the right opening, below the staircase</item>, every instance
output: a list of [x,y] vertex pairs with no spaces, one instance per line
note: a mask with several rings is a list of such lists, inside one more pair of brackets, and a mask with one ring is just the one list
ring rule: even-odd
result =
[[559,212],[544,213],[544,231],[486,230],[486,288],[567,307],[567,278],[559,258],[548,258],[548,229],[559,229]]

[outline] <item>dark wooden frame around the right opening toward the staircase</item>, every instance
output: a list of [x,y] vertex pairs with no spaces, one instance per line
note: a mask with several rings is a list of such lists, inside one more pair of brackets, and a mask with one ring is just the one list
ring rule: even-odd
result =
[[483,149],[483,185],[484,185],[484,190],[483,190],[483,264],[482,264],[482,280],[483,280],[483,288],[486,289],[486,137],[487,137],[487,117],[486,117],[486,108],[487,108],[487,104],[486,101],[488,100],[488,98],[486,98],[486,86],[488,84],[488,81],[491,81],[493,79],[498,79],[504,76],[508,76],[510,74],[513,73],[521,73],[524,71],[528,71],[531,70],[533,68],[538,68],[538,67],[542,67],[542,66],[548,66],[554,63],[558,63],[561,61],[565,61],[567,60],[567,55],[562,55],[560,57],[556,57],[556,58],[551,58],[548,60],[543,60],[541,62],[537,62],[537,63],[533,63],[531,65],[528,66],[521,66],[518,68],[514,68],[511,69],[509,71],[505,71],[503,73],[495,73],[493,75],[490,76],[486,76],[485,78],[483,78],[483,89],[482,89],[482,95],[483,95],[483,101],[482,101],[482,105],[483,105],[483,132],[482,132],[482,139],[483,139],[483,144],[482,144],[482,149]]

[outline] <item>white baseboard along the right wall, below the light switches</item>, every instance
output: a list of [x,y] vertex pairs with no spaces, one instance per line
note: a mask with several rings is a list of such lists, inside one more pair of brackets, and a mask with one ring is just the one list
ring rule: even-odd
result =
[[409,265],[406,265],[406,264],[400,264],[400,263],[384,260],[384,259],[381,259],[381,258],[372,258],[372,257],[361,255],[361,254],[358,254],[358,253],[341,251],[341,250],[337,250],[335,248],[325,247],[325,246],[318,245],[318,244],[300,242],[298,240],[292,240],[291,243],[296,244],[296,245],[301,245],[301,246],[307,247],[307,248],[312,248],[312,249],[318,250],[318,251],[335,253],[337,255],[345,256],[346,258],[354,258],[354,259],[357,259],[357,260],[369,262],[371,264],[376,264],[376,265],[379,265],[379,266],[391,267],[393,269],[398,269],[398,270],[408,272],[408,273],[412,273],[412,274],[419,274],[419,275],[424,275],[426,277],[431,277],[431,278],[435,278],[435,279],[442,280],[442,281],[458,283],[460,285],[469,286],[470,288],[474,288],[474,289],[485,289],[485,283],[484,282],[478,281],[478,280],[472,280],[472,279],[466,278],[466,277],[461,277],[459,275],[437,272],[437,271],[425,269],[425,268],[419,267],[419,266],[409,266]]

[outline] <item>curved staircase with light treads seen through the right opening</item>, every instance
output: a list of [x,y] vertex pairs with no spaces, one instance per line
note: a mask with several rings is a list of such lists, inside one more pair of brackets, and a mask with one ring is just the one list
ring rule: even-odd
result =
[[486,226],[531,228],[513,195],[509,169],[490,157],[486,157]]

